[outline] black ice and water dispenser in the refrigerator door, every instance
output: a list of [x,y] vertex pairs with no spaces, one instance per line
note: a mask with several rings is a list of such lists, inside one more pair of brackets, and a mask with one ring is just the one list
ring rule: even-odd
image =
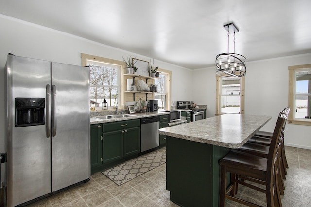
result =
[[44,125],[44,98],[15,98],[15,127]]

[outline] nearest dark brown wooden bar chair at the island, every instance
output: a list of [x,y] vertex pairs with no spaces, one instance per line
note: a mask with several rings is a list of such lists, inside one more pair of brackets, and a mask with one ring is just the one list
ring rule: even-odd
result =
[[[219,206],[225,207],[225,199],[230,199],[251,207],[259,205],[246,200],[234,197],[238,184],[266,193],[267,207],[282,206],[278,191],[277,174],[277,145],[282,135],[282,128],[285,124],[285,117],[281,114],[276,122],[276,127],[271,139],[268,158],[252,155],[238,150],[231,150],[223,159],[219,161],[221,165],[221,184]],[[227,186],[227,172],[231,174],[230,185]],[[259,188],[251,183],[239,180],[238,177],[255,181],[265,185],[265,189]]]

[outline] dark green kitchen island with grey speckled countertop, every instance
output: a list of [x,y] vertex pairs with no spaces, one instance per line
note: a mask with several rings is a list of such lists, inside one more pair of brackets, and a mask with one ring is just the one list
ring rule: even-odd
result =
[[160,129],[166,135],[166,189],[183,207],[218,207],[218,161],[246,143],[270,116],[224,114]]

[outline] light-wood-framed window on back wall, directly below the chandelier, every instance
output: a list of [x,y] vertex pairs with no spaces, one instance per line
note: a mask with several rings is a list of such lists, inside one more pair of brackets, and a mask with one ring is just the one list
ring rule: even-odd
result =
[[244,79],[216,76],[216,114],[244,114]]

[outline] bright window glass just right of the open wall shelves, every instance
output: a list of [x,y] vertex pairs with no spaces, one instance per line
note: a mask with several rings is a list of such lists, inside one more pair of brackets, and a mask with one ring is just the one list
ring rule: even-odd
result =
[[167,106],[167,74],[159,74],[159,78],[155,79],[155,86],[157,93],[155,93],[155,100],[158,100],[159,108],[166,109]]

